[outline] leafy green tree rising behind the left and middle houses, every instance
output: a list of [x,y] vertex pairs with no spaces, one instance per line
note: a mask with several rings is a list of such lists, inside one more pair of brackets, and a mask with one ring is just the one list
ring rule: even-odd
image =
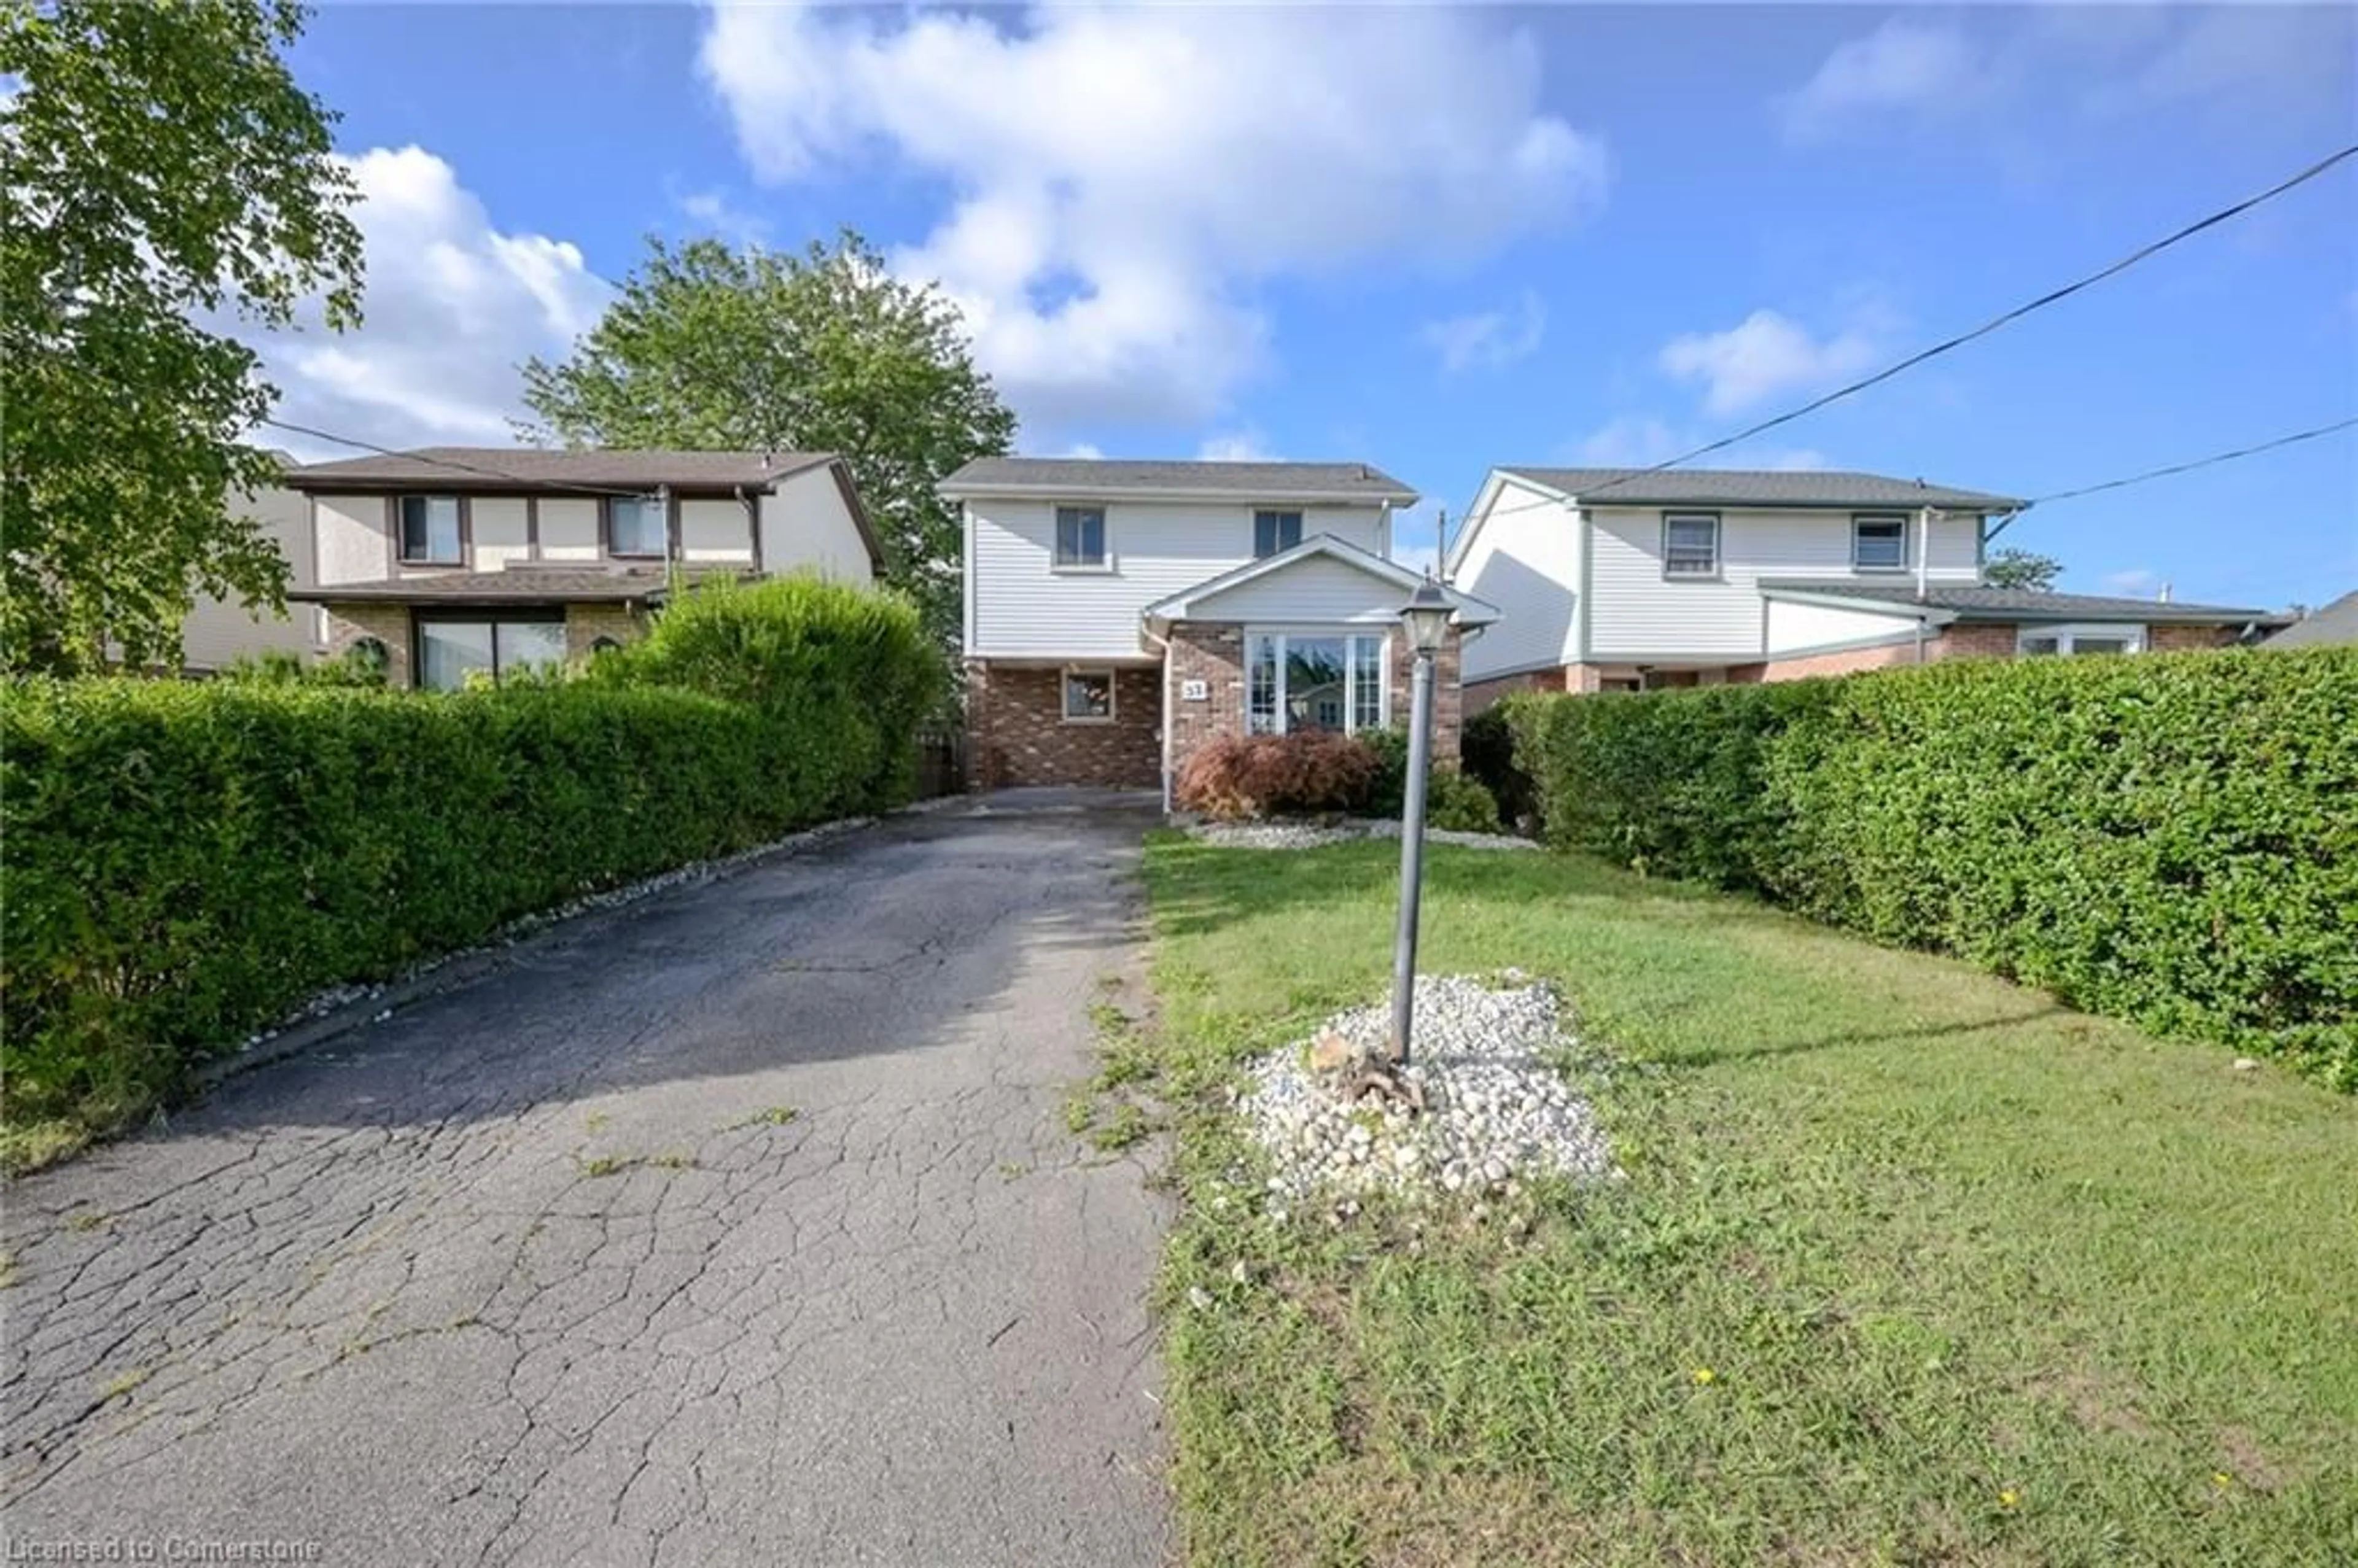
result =
[[901,283],[849,229],[802,255],[648,241],[559,365],[523,365],[531,439],[566,446],[825,450],[851,462],[884,580],[957,634],[957,512],[934,486],[997,455],[1016,417],[974,368],[957,309]]

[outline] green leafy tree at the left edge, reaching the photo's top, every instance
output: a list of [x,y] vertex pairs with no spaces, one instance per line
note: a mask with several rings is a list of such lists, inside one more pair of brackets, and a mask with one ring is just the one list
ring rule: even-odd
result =
[[0,667],[179,663],[196,592],[285,606],[241,490],[276,406],[203,323],[358,321],[335,116],[281,50],[290,0],[0,0]]

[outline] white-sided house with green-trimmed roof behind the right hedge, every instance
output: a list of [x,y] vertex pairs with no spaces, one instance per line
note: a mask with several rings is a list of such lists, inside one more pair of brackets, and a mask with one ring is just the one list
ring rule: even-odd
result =
[[1919,479],[1738,469],[1490,469],[1448,578],[1500,608],[1467,705],[1507,691],[1785,681],[1941,658],[2254,641],[2254,608],[1995,587],[2026,502]]

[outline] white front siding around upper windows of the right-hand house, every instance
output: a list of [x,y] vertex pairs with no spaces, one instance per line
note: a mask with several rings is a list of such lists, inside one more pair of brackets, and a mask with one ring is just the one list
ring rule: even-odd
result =
[[[1662,512],[1599,507],[1589,526],[1589,658],[1669,658],[1764,653],[1761,578],[1891,582],[1891,573],[1851,566],[1851,512],[1719,514],[1719,578],[1662,578]],[[1910,519],[1910,552],[1915,519]],[[1950,516],[1931,526],[1926,578],[1974,582],[1981,519]],[[1910,556],[1912,559],[1912,556]],[[1478,585],[1469,592],[1486,594]],[[1488,639],[1483,639],[1488,641]],[[1469,672],[1469,679],[1476,679]]]

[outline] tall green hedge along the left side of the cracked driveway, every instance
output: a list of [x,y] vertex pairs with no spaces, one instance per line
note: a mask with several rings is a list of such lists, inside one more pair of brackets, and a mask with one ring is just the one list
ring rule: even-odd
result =
[[[726,679],[684,655],[724,630],[769,639]],[[325,986],[894,804],[938,679],[908,606],[778,582],[561,684],[14,684],[7,1120],[120,1120]]]

